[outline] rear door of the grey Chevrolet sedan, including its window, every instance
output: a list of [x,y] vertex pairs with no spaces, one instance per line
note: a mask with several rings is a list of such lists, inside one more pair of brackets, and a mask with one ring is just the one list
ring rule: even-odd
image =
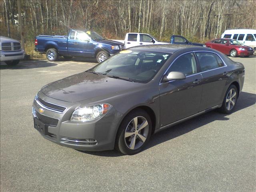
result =
[[217,106],[223,101],[223,92],[228,78],[226,64],[213,52],[195,52],[199,62],[202,82],[200,111]]

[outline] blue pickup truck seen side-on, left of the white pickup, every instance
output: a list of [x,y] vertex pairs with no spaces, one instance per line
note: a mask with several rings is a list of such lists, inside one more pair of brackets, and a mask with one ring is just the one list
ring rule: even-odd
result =
[[91,30],[70,30],[68,36],[39,35],[35,46],[35,50],[46,53],[50,61],[58,60],[59,56],[66,59],[91,57],[99,63],[124,49],[123,43],[107,40]]

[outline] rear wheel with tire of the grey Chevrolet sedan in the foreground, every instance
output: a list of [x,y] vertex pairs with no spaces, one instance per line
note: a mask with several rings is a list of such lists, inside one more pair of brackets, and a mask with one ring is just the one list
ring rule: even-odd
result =
[[220,112],[224,114],[232,113],[232,111],[234,110],[234,107],[236,106],[237,98],[238,98],[237,88],[236,86],[231,85],[225,94],[225,98],[222,102]]

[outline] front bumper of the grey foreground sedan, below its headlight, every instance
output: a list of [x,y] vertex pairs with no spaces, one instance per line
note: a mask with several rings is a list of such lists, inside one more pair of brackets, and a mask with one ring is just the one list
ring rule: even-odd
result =
[[121,115],[113,107],[102,118],[97,120],[72,122],[70,121],[70,117],[74,109],[79,107],[79,104],[49,98],[42,92],[39,92],[38,96],[47,102],[67,106],[63,113],[57,113],[43,108],[44,112],[40,113],[38,117],[36,114],[39,113],[42,106],[34,101],[34,122],[37,118],[40,120],[42,116],[58,120],[56,126],[47,126],[47,134],[43,131],[39,131],[44,138],[56,144],[77,150],[102,151],[114,149],[116,132],[119,127]]

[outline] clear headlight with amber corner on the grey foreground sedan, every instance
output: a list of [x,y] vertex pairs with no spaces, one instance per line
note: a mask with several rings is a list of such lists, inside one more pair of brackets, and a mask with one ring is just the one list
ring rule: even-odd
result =
[[94,106],[82,107],[76,109],[70,120],[71,121],[92,121],[100,118],[104,114],[106,114],[112,106],[107,103],[97,104]]

